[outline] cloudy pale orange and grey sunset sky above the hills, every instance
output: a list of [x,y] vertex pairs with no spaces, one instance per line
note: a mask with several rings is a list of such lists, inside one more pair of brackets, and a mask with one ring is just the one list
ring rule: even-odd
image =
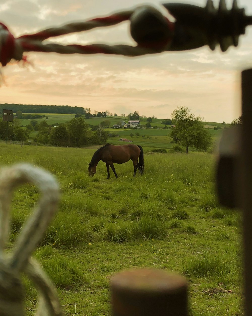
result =
[[[168,1],[167,1],[168,2]],[[175,2],[175,1],[172,1]],[[177,1],[186,2],[188,1]],[[138,0],[0,0],[0,21],[15,37],[73,21],[131,9]],[[167,14],[160,0],[148,0]],[[205,1],[190,2],[205,6]],[[217,6],[217,2],[214,1]],[[230,8],[231,2],[227,1]],[[247,15],[252,1],[238,0]],[[129,44],[129,22],[54,38],[61,44]],[[252,66],[252,27],[227,52],[202,47],[142,57],[28,53],[33,67],[9,64],[1,71],[0,103],[70,105],[169,118],[188,106],[205,121],[230,123],[240,115],[240,72]]]

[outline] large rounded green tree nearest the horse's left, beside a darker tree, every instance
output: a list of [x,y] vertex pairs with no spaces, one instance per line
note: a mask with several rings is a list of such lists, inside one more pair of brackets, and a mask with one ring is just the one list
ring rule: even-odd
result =
[[73,118],[66,124],[67,131],[69,133],[70,143],[72,147],[80,147],[86,142],[86,134],[89,129],[89,125],[84,121],[82,117]]

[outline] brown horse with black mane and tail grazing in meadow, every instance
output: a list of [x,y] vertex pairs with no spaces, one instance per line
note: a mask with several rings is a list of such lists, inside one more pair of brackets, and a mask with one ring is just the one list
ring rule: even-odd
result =
[[[139,157],[139,162],[137,161]],[[143,161],[143,149],[141,146],[136,146],[133,144],[129,145],[111,145],[106,144],[105,146],[99,148],[93,155],[91,162],[88,167],[88,173],[91,177],[93,177],[96,173],[96,166],[98,162],[101,160],[106,163],[108,177],[110,178],[109,167],[115,173],[116,178],[118,178],[116,169],[113,165],[115,163],[124,163],[129,160],[132,160],[134,166],[134,174],[135,177],[136,169],[138,168],[139,172],[143,174],[144,172],[144,161]]]

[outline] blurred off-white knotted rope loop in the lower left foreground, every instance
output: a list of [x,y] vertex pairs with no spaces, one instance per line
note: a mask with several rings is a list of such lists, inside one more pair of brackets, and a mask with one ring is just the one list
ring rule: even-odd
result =
[[[9,234],[9,211],[14,189],[32,183],[41,191],[34,213],[22,228],[12,254],[4,253]],[[63,315],[60,302],[51,281],[40,265],[30,256],[52,220],[60,198],[59,185],[54,177],[38,167],[18,164],[3,168],[0,173],[0,315],[24,315],[23,290],[20,273],[27,274],[37,286],[41,296],[36,316]]]

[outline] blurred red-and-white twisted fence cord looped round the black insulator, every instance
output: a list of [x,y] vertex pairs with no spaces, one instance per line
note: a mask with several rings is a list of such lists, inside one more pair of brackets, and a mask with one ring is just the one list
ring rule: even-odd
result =
[[[42,43],[44,40],[62,36],[69,33],[82,32],[91,30],[96,27],[106,27],[118,24],[123,21],[130,19],[134,10],[123,11],[116,14],[112,14],[106,17],[98,17],[89,21],[80,23],[70,23],[63,25],[62,27],[49,28],[34,34],[22,35],[18,38],[9,32],[8,28],[0,23],[0,27],[3,31],[3,42],[0,47],[0,63],[5,66],[12,58],[16,60],[27,62],[27,58],[22,56],[23,52],[57,52],[60,54],[118,54],[124,56],[141,56],[149,53],[162,52],[168,50],[169,43],[174,36],[174,23],[170,22],[167,18],[167,34],[165,29],[161,30],[164,32],[164,36],[161,36],[159,40],[153,40],[148,38],[144,41],[136,41],[137,46],[129,45],[105,45],[105,44],[92,44],[92,45],[60,45],[56,43]],[[0,28],[0,32],[1,32]],[[1,35],[1,33],[0,33]],[[148,34],[147,34],[148,35]]]

